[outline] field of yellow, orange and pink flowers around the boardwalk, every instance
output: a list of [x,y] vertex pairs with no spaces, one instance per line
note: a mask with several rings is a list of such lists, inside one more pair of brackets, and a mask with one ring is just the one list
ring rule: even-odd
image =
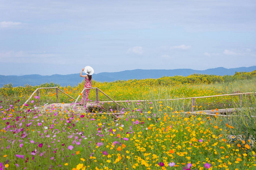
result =
[[[40,97],[23,105],[38,87],[9,84],[0,89],[0,169],[255,169],[255,95],[242,96],[241,104],[239,96],[196,100],[198,111],[241,107],[234,117],[192,115],[191,100],[150,101],[255,92],[253,73],[198,75],[184,82],[167,77],[94,82],[112,99],[127,100],[120,114],[111,103],[104,105],[108,112],[56,107],[53,90],[40,90]],[[60,88],[76,98],[83,83]],[[74,102],[59,97],[61,103]],[[95,101],[93,90],[89,98]]]

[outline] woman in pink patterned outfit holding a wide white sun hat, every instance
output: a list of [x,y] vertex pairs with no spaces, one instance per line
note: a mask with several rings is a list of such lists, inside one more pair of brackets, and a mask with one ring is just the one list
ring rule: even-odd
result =
[[[85,70],[86,75],[82,75],[83,70]],[[85,86],[83,88],[91,88],[91,75],[93,75],[94,70],[92,67],[90,66],[86,66],[85,69],[82,69],[80,76],[85,78]],[[85,106],[89,97],[89,92],[90,89],[86,89],[85,90],[85,99],[83,99],[83,95],[82,95],[82,99],[80,101],[80,104],[83,105],[83,100],[85,100]]]

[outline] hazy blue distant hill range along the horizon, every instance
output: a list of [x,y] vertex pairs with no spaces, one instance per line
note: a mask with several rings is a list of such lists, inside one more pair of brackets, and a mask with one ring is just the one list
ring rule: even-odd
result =
[[[192,69],[174,69],[174,70],[126,70],[114,73],[99,73],[94,74],[93,79],[98,82],[114,82],[115,80],[128,80],[128,79],[147,79],[147,78],[161,78],[162,76],[175,76],[182,75],[188,76],[191,74],[212,74],[212,75],[233,75],[236,72],[249,72],[256,70],[256,66],[251,67],[238,67],[234,69],[225,69],[224,67],[217,67],[215,69],[207,70],[192,70]],[[11,83],[14,87],[24,86],[30,84],[31,86],[40,85],[43,83],[57,83],[60,86],[74,86],[83,81],[80,74],[68,75],[0,75],[0,87],[5,84]]]

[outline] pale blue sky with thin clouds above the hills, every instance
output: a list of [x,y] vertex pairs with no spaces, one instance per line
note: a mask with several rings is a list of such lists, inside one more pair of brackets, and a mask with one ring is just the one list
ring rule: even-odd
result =
[[255,0],[0,0],[0,74],[256,65]]

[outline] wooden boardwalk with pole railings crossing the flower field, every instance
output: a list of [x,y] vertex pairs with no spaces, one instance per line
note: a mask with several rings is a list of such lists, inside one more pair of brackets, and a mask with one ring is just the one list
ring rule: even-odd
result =
[[[194,111],[194,107],[196,105],[196,99],[208,98],[208,97],[236,96],[236,95],[239,95],[239,103],[240,103],[240,107],[241,107],[241,105],[242,105],[242,95],[256,95],[256,92],[246,92],[246,93],[239,93],[239,94],[225,94],[225,95],[213,95],[213,96],[184,97],[184,98],[179,98],[179,99],[115,101],[115,100],[111,99],[111,97],[109,97],[108,95],[104,94],[104,92],[101,91],[99,88],[93,87],[93,88],[90,88],[90,89],[95,89],[95,92],[96,92],[96,102],[94,102],[94,103],[87,103],[85,105],[85,101],[84,101],[83,105],[77,105],[76,103],[77,103],[79,97],[82,96],[82,95],[85,97],[85,90],[88,89],[88,88],[83,88],[82,92],[79,94],[79,96],[77,97],[77,99],[75,100],[74,103],[59,103],[59,91],[62,92],[63,94],[65,94],[66,96],[70,97],[70,99],[74,100],[74,98],[72,96],[69,96],[68,94],[66,94],[64,91],[60,90],[60,88],[58,88],[58,87],[41,87],[41,88],[37,88],[32,93],[30,98],[23,105],[25,105],[32,98],[33,95],[37,94],[37,96],[39,97],[41,89],[54,89],[56,91],[56,103],[47,104],[47,105],[38,107],[42,111],[43,110],[47,110],[47,108],[50,108],[50,107],[61,108],[61,110],[62,109],[69,109],[69,110],[71,109],[72,111],[75,111],[75,112],[86,112],[85,108],[89,108],[89,109],[95,108],[98,111],[99,111],[99,109],[102,109],[101,113],[97,113],[97,114],[121,114],[119,112],[119,107],[120,107],[119,103],[124,103],[124,102],[141,102],[142,104],[144,104],[144,108],[145,108],[145,103],[148,102],[148,101],[174,101],[174,100],[190,99],[191,100],[191,109],[190,109],[190,111],[188,111],[188,112],[178,112],[178,113],[183,113],[183,114],[205,114],[205,115],[209,115],[209,116],[232,116],[233,112],[240,111],[241,108],[213,109],[213,110],[204,110],[204,111]],[[98,92],[101,92],[104,96],[106,96],[111,101],[99,101]],[[39,97],[38,100],[39,100],[39,105],[40,105],[40,97]],[[114,113],[107,112],[107,110],[102,107],[102,104],[104,104],[104,103],[115,103],[117,111],[114,112]],[[253,108],[251,108],[251,109],[253,109]],[[106,111],[106,112],[104,112],[104,111]],[[144,113],[144,114],[148,114],[148,113]],[[155,114],[159,114],[159,113],[155,113]],[[255,116],[252,116],[252,117],[255,117]]]

